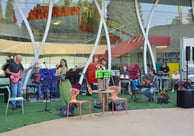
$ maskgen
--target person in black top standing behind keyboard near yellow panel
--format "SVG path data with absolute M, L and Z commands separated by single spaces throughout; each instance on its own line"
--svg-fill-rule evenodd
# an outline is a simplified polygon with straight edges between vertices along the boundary
M 165 65 L 165 63 L 162 64 L 162 66 L 160 67 L 160 71 L 163 72 L 163 84 L 164 84 L 164 88 L 166 90 L 168 90 L 168 76 L 169 76 L 169 67 Z

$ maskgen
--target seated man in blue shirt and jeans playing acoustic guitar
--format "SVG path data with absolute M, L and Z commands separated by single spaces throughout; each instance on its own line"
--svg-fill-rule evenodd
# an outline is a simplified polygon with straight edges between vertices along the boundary
M 148 101 L 153 101 L 154 92 L 157 90 L 158 77 L 155 75 L 155 70 L 150 69 L 149 74 L 143 77 L 141 93 L 147 96 Z

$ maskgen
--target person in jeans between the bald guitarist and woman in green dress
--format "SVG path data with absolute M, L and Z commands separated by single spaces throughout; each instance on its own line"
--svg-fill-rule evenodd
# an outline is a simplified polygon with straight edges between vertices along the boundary
M 35 84 L 37 86 L 38 89 L 38 98 L 42 99 L 42 94 L 41 94 L 41 85 L 40 85 L 40 81 L 43 80 L 43 78 L 41 77 L 40 74 L 40 67 L 36 67 L 35 72 L 32 74 L 31 76 L 31 81 L 33 84 Z

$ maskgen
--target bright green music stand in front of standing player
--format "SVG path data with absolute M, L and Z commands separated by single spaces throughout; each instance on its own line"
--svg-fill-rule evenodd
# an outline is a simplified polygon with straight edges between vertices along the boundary
M 104 78 L 110 78 L 110 70 L 96 70 L 96 75 L 95 77 L 97 79 L 104 79 Z M 105 85 L 106 85 L 106 80 L 105 80 L 105 83 L 104 83 L 104 80 L 103 80 L 103 90 L 105 91 Z

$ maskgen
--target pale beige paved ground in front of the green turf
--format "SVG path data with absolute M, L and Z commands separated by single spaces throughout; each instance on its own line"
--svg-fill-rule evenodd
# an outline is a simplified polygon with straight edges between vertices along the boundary
M 34 124 L 0 136 L 193 136 L 194 109 L 147 109 Z M 14 122 L 12 122 L 14 123 Z

